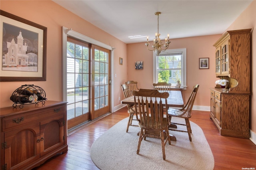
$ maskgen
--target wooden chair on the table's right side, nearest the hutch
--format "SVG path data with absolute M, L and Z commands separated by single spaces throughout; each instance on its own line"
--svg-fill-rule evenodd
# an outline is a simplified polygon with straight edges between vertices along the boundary
M 171 127 L 169 128 L 169 130 L 174 130 L 174 131 L 179 131 L 179 132 L 188 132 L 188 138 L 190 141 L 192 141 L 192 138 L 191 138 L 192 129 L 190 127 L 189 119 L 191 117 L 191 111 L 192 111 L 192 108 L 194 105 L 194 101 L 196 99 L 196 93 L 198 91 L 198 88 L 199 88 L 199 85 L 196 85 L 193 87 L 190 97 L 189 97 L 186 105 L 182 109 L 173 109 L 173 108 L 168 109 L 168 117 L 169 117 L 170 125 L 173 125 L 173 124 L 174 125 L 184 125 L 187 127 L 187 131 L 173 129 Z M 171 121 L 172 117 L 180 117 L 182 119 L 185 119 L 186 124 L 173 123 Z

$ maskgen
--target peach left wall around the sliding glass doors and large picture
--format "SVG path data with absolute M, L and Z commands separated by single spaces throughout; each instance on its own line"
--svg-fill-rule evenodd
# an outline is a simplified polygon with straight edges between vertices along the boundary
M 26 20 L 47 27 L 47 67 L 46 81 L 0 82 L 0 107 L 12 106 L 10 95 L 24 84 L 34 84 L 42 87 L 48 100 L 62 101 L 62 26 L 84 34 L 90 38 L 115 47 L 113 77 L 114 106 L 120 104 L 118 97 L 120 83 L 127 79 L 126 65 L 119 65 L 119 57 L 126 60 L 126 43 L 93 26 L 89 22 L 62 8 L 51 0 L 1 0 L 0 9 Z M 116 88 L 115 88 L 116 87 Z

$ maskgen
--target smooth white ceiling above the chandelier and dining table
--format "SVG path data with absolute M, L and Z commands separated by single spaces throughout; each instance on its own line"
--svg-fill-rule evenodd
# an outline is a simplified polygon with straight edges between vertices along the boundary
M 252 0 L 53 0 L 125 43 L 222 34 Z

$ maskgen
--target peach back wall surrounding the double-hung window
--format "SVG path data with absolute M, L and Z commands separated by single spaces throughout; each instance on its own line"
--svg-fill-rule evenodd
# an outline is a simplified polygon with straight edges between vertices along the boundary
M 210 87 L 215 87 L 218 79 L 215 75 L 215 47 L 213 44 L 221 34 L 173 39 L 168 49 L 186 48 L 187 53 L 187 90 L 184 91 L 185 100 L 188 99 L 192 87 L 199 84 L 199 90 L 194 105 L 210 106 Z M 152 42 L 151 42 L 152 44 Z M 138 81 L 139 88 L 152 89 L 153 84 L 153 52 L 148 51 L 145 43 L 127 45 L 128 79 Z M 209 69 L 199 69 L 199 58 L 209 58 Z M 135 61 L 143 61 L 143 69 L 135 69 Z

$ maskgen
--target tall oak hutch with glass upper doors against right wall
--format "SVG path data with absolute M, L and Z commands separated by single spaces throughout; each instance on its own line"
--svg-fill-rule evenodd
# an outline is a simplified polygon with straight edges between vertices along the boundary
M 215 74 L 229 82 L 210 88 L 210 118 L 221 135 L 250 138 L 250 32 L 228 31 L 214 44 Z

